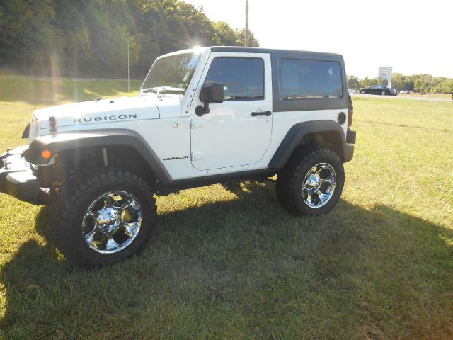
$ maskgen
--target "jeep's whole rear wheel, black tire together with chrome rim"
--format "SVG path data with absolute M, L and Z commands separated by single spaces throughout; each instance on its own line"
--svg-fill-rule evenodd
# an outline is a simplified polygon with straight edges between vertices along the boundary
M 345 184 L 343 162 L 323 147 L 300 148 L 277 177 L 277 200 L 293 215 L 322 215 L 338 203 Z

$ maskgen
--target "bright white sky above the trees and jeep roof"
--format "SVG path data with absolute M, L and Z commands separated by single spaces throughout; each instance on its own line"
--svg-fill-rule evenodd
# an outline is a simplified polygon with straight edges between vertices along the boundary
M 245 0 L 185 0 L 212 21 L 245 26 Z M 452 0 L 249 0 L 249 27 L 260 47 L 340 53 L 346 72 L 453 78 Z

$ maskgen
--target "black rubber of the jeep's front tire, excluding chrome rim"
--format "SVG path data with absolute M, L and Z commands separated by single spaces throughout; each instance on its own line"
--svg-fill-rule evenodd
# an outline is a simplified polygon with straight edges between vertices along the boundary
M 74 189 L 58 195 L 52 212 L 58 216 L 55 222 L 55 243 L 59 251 L 80 267 L 102 266 L 121 261 L 136 253 L 147 244 L 156 225 L 156 200 L 149 183 L 136 174 L 124 170 L 105 170 L 92 174 L 89 179 L 75 182 Z M 86 244 L 82 232 L 84 214 L 96 198 L 109 191 L 132 193 L 142 206 L 142 225 L 129 246 L 113 254 L 99 254 Z

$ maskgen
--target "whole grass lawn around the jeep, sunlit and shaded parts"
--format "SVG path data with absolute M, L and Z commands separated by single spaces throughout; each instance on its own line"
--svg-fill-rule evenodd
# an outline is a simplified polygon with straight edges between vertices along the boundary
M 0 77 L 0 150 L 36 108 L 126 89 Z M 273 183 L 182 191 L 157 198 L 142 254 L 82 271 L 47 242 L 47 208 L 0 194 L 0 336 L 453 339 L 453 103 L 354 100 L 355 157 L 321 217 L 288 215 Z

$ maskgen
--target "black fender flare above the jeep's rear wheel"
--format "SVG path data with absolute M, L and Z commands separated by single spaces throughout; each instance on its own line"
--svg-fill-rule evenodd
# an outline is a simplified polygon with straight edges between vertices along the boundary
M 283 138 L 280 146 L 275 151 L 272 159 L 268 164 L 268 167 L 273 169 L 282 169 L 289 157 L 291 157 L 294 149 L 299 145 L 299 142 L 306 136 L 312 133 L 319 132 L 333 132 L 338 134 L 341 140 L 341 145 L 338 146 L 338 149 L 341 150 L 339 156 L 343 161 L 345 161 L 344 149 L 346 147 L 345 132 L 340 124 L 336 123 L 334 120 L 312 120 L 304 123 L 297 123 L 290 128 Z

